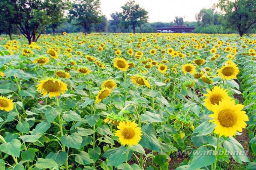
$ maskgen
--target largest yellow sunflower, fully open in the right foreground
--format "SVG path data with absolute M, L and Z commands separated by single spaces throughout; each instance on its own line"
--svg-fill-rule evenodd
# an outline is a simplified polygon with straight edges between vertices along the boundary
M 209 115 L 216 124 L 214 132 L 220 136 L 234 136 L 236 132 L 242 132 L 246 127 L 245 121 L 249 118 L 245 111 L 242 111 L 244 105 L 235 104 L 235 101 L 223 100 L 219 105 L 213 107 L 214 114 Z

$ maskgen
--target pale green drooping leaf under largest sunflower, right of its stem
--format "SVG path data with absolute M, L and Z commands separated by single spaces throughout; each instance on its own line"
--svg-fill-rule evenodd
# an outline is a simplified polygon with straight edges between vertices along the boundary
M 238 163 L 250 162 L 244 151 L 243 146 L 235 140 L 234 137 L 229 137 L 228 140 L 223 142 L 223 147 L 232 155 Z

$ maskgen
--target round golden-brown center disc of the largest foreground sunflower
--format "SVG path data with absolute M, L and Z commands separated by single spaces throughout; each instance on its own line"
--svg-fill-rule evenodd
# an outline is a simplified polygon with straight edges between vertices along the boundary
M 231 109 L 224 109 L 219 112 L 218 120 L 224 127 L 232 127 L 237 122 L 237 116 Z

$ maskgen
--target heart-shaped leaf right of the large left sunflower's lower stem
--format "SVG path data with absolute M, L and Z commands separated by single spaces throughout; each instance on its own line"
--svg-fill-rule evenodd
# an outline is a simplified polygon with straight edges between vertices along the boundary
M 78 133 L 72 133 L 71 135 L 64 135 L 61 136 L 60 142 L 69 147 L 69 148 L 75 148 L 80 149 L 80 146 L 82 144 L 82 137 Z

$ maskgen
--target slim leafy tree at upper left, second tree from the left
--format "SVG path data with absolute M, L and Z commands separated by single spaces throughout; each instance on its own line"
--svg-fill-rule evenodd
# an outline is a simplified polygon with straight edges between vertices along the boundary
M 55 35 L 55 29 L 64 22 L 64 10 L 69 9 L 69 0 L 45 0 L 46 13 L 49 16 L 49 25 Z

